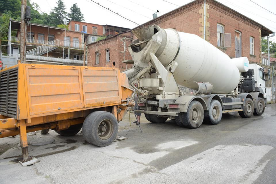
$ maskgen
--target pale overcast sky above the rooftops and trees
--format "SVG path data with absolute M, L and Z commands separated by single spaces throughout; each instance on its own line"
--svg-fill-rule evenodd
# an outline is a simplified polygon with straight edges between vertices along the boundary
M 49 13 L 57 4 L 57 0 L 31 0 L 39 5 L 42 12 Z M 85 21 L 100 25 L 114 25 L 125 28 L 134 28 L 137 24 L 143 24 L 152 19 L 152 14 L 159 10 L 160 15 L 165 14 L 179 6 L 185 5 L 192 0 L 63 0 L 66 5 L 66 11 L 70 12 L 70 7 L 77 3 L 81 8 Z M 275 0 L 216 0 L 235 11 L 251 18 L 252 20 L 276 32 L 276 1 Z M 262 6 L 262 7 L 256 5 Z M 170 2 L 170 3 L 169 3 Z M 101 7 L 100 5 L 120 14 L 121 16 L 136 22 L 137 24 L 126 20 L 116 13 Z M 271 11 L 271 12 L 269 12 Z M 274 14 L 273 14 L 274 13 Z M 276 36 L 269 38 L 276 42 Z

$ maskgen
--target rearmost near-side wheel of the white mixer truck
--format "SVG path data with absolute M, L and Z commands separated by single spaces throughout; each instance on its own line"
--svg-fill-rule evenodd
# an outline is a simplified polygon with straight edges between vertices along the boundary
M 184 127 L 195 129 L 202 125 L 204 119 L 203 106 L 198 101 L 192 101 L 189 104 L 187 113 L 180 112 L 175 118 L 178 125 L 183 124 Z

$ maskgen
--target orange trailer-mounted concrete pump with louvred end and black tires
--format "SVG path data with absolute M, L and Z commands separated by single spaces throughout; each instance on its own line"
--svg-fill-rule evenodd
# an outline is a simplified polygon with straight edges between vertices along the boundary
M 27 132 L 53 129 L 107 146 L 127 113 L 133 90 L 118 68 L 18 64 L 0 72 L 0 138 L 20 135 L 23 160 Z

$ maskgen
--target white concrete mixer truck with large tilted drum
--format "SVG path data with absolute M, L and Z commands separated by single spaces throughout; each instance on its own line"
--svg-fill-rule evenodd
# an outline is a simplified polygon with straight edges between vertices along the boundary
M 170 118 L 194 129 L 203 122 L 218 124 L 222 113 L 242 118 L 264 113 L 264 69 L 246 57 L 230 59 L 197 35 L 156 25 L 132 32 L 138 38 L 128 47 L 134 65 L 124 73 L 129 84 L 138 82 L 143 95 L 137 112 L 148 121 Z M 196 92 L 183 94 L 177 84 Z

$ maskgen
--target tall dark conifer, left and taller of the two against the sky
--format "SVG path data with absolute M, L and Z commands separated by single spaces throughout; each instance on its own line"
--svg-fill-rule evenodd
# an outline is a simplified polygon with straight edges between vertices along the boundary
M 59 24 L 63 24 L 63 18 L 66 18 L 66 11 L 65 11 L 65 5 L 62 0 L 58 0 L 57 6 L 52 9 L 49 18 L 51 20 L 51 24 L 54 24 L 53 26 L 57 26 Z

